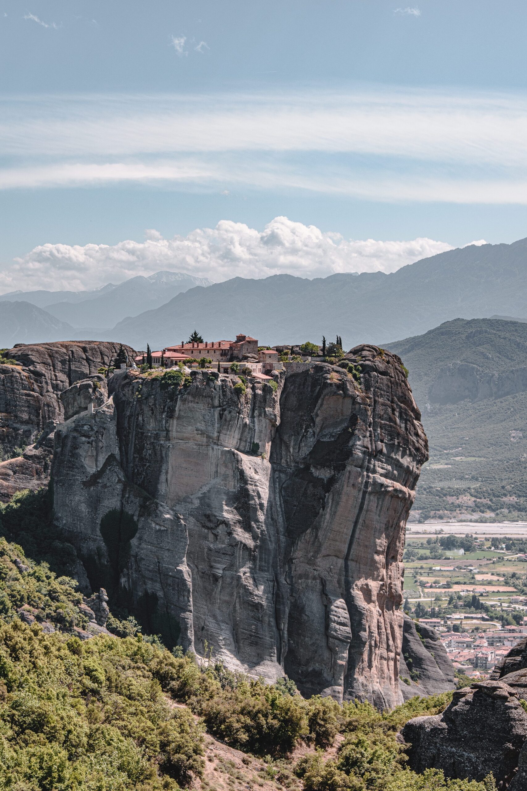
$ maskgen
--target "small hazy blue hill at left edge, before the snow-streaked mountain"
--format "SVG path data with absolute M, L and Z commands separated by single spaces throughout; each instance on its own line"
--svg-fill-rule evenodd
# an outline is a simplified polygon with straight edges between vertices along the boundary
M 6 302 L 0 307 L 0 347 L 15 343 L 71 340 L 73 327 L 30 302 Z

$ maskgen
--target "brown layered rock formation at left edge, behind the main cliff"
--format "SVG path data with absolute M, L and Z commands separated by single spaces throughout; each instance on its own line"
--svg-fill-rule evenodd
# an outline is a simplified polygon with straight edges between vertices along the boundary
M 99 388 L 93 400 L 104 403 L 106 380 L 97 371 L 118 350 L 119 343 L 97 341 L 17 344 L 9 350 L 18 365 L 0 364 L 0 500 L 47 485 L 55 425 L 81 409 L 90 388 L 92 395 Z M 135 354 L 129 346 L 126 353 Z M 81 393 L 66 395 L 72 385 Z

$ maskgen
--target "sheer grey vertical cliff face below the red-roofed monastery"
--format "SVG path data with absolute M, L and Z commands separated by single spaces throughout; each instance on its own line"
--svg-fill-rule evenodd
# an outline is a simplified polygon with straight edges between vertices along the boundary
M 55 514 L 105 587 L 165 639 L 306 694 L 401 702 L 402 549 L 427 442 L 374 346 L 277 387 L 119 373 L 55 433 Z M 109 592 L 110 592 L 109 590 Z

